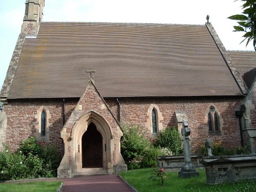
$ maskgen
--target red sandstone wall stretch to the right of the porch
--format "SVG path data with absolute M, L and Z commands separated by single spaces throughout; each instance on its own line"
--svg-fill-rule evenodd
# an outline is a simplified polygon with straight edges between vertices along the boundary
M 241 101 L 237 99 L 119 99 L 121 103 L 121 122 L 140 124 L 145 129 L 148 118 L 147 110 L 152 103 L 157 104 L 162 113 L 163 127 L 175 126 L 175 111 L 185 111 L 188 125 L 191 130 L 192 150 L 198 151 L 204 145 L 206 108 L 214 104 L 223 118 L 223 136 L 209 136 L 214 142 L 221 142 L 224 146 L 241 146 L 239 119 L 235 111 L 240 108 Z M 106 99 L 110 103 L 111 110 L 117 114 L 117 101 Z M 116 104 L 114 104 L 116 103 Z

